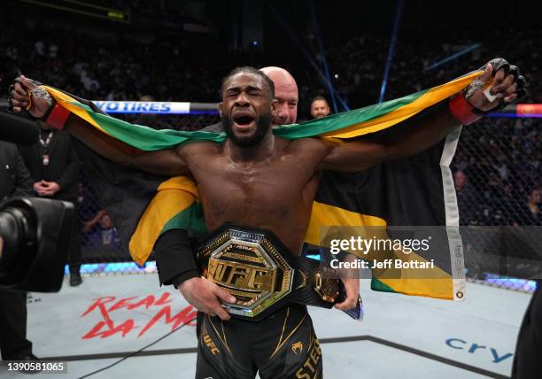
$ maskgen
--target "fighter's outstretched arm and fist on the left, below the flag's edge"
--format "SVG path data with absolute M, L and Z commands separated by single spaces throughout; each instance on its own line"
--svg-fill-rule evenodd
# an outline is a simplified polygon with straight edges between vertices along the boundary
M 24 76 L 15 82 L 10 93 L 10 105 L 13 112 L 21 112 L 21 109 L 27 108 L 27 111 L 37 119 L 43 118 L 49 113 L 49 118 L 53 115 L 51 107 L 54 104 L 50 99 L 43 97 L 32 97 L 29 101 L 27 90 L 33 91 L 38 86 L 34 81 Z M 28 106 L 30 105 L 30 106 Z M 112 138 L 109 135 L 98 131 L 96 128 L 89 127 L 89 123 L 82 120 L 74 113 L 70 113 L 64 120 L 64 128 L 75 138 L 85 143 L 93 151 L 96 151 L 106 159 L 123 166 L 130 166 L 141 169 L 151 174 L 157 175 L 182 175 L 189 174 L 185 161 L 177 154 L 174 149 L 161 151 L 140 151 L 127 143 Z

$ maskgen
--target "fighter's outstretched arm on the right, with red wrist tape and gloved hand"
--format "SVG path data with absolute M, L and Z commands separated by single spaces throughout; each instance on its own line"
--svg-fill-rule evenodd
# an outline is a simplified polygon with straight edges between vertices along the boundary
M 319 168 L 358 172 L 386 160 L 411 157 L 441 141 L 454 128 L 473 122 L 476 115 L 473 118 L 473 113 L 469 113 L 467 108 L 488 112 L 499 104 L 515 101 L 518 93 L 523 91 L 524 79 L 519 76 L 517 67 L 507 65 L 504 59 L 500 59 L 499 63 L 492 81 L 493 101 L 484 95 L 484 84 L 490 81 L 494 69 L 494 65 L 488 64 L 484 73 L 468 87 L 465 94 L 458 94 L 456 98 L 434 105 L 422 115 L 408 120 L 383 141 L 327 141 L 329 153 Z M 468 100 L 463 96 L 468 97 Z

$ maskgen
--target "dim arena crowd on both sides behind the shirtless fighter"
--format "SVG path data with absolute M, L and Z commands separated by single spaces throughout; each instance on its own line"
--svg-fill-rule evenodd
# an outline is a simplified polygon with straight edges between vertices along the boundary
M 144 2 L 143 2 L 144 3 Z M 8 15 L 0 16 L 0 77 L 11 81 L 25 73 L 77 96 L 93 100 L 160 100 L 217 102 L 221 77 L 235 65 L 225 57 L 213 66 L 201 64 L 182 44 L 138 43 L 129 39 L 97 40 L 89 34 L 41 27 L 21 30 Z M 487 58 L 510 56 L 522 67 L 528 80 L 539 77 L 538 50 L 528 43 L 535 33 L 515 32 L 515 38 L 499 38 L 507 31 L 495 30 L 488 43 L 461 58 L 427 70 L 430 64 L 458 50 L 479 43 L 467 32 L 458 32 L 460 43 L 406 40 L 398 43 L 391 60 L 385 99 L 451 80 L 472 70 Z M 497 43 L 498 41 L 499 43 Z M 315 50 L 308 38 L 307 47 Z M 324 41 L 324 50 L 337 96 L 352 108 L 376 103 L 383 81 L 389 38 L 378 35 L 352 36 L 348 41 Z M 318 62 L 321 55 L 315 54 Z M 238 59 L 239 56 L 236 56 Z M 253 61 L 253 60 L 252 60 Z M 261 62 L 262 66 L 266 62 Z M 295 70 L 294 70 L 295 71 Z M 337 73 L 337 77 L 335 74 Z M 317 74 L 306 70 L 298 76 L 299 96 L 321 94 L 327 86 Z M 2 86 L 7 89 L 6 83 Z M 530 91 L 527 103 L 542 103 L 542 91 Z M 301 103 L 304 104 L 304 103 Z M 340 110 L 339 106 L 339 110 Z M 307 114 L 299 110 L 300 118 Z M 196 130 L 216 122 L 213 115 L 122 116 L 130 122 L 153 128 Z M 537 119 L 486 118 L 467 128 L 453 160 L 453 173 L 463 225 L 541 225 L 542 146 Z M 81 185 L 83 245 L 118 244 L 111 219 L 101 212 L 86 186 Z M 84 226 L 84 228 L 82 227 Z

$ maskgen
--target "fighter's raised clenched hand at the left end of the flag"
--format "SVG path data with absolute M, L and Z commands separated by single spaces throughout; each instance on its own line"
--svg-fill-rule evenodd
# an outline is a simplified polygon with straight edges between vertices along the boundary
M 34 81 L 30 81 L 26 76 L 21 75 L 19 80 L 13 84 L 10 92 L 9 106 L 12 106 L 12 112 L 19 113 L 21 110 L 27 109 L 28 104 L 30 104 L 27 111 L 36 119 L 41 119 L 50 108 L 50 100 L 41 97 L 38 92 L 35 92 L 35 96 L 31 95 L 32 91 L 36 90 L 41 93 L 45 89 L 39 89 Z

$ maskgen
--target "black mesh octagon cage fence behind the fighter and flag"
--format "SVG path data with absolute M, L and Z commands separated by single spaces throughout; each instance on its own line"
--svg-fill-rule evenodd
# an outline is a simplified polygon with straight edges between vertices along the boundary
M 114 117 L 156 129 L 194 131 L 220 121 L 216 104 L 210 103 L 96 103 Z M 538 212 L 542 138 L 538 120 L 536 114 L 504 112 L 461 131 L 451 169 L 462 230 L 476 230 L 476 237 L 463 245 L 468 281 L 523 292 L 536 288 L 536 282 L 530 279 L 538 277 L 542 266 L 542 213 Z M 81 273 L 156 271 L 152 256 L 139 267 L 121 248 L 112 220 L 97 201 L 84 172 L 78 203 Z M 510 243 L 510 239 L 515 242 Z

